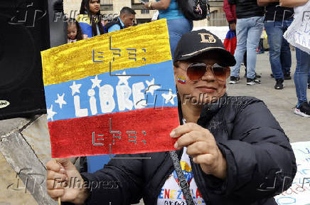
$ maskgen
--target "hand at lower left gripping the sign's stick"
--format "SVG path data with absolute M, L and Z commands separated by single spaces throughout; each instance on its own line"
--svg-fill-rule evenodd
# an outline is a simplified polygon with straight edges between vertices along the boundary
M 57 201 L 60 197 L 61 201 L 84 204 L 89 192 L 82 186 L 84 180 L 68 158 L 51 159 L 46 168 L 48 169 L 46 186 L 52 199 Z

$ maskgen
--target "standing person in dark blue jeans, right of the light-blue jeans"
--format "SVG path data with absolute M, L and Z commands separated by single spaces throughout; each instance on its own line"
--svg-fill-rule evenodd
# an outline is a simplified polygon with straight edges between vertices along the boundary
M 282 90 L 284 80 L 292 79 L 291 48 L 283 34 L 294 20 L 294 9 L 279 6 L 279 1 L 275 0 L 257 0 L 257 4 L 266 6 L 264 28 L 268 36 L 272 75 L 276 80 L 274 89 Z

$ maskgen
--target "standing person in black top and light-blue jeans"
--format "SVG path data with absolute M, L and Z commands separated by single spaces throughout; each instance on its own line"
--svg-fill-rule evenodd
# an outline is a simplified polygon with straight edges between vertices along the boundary
M 257 0 L 235 0 L 237 48 L 235 50 L 236 65 L 230 72 L 230 84 L 239 80 L 240 66 L 247 51 L 247 85 L 260 84 L 255 76 L 257 47 L 263 30 L 264 8 L 257 6 Z

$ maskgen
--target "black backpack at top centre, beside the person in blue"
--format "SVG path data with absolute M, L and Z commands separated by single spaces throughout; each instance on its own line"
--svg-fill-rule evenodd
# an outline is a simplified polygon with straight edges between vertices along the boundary
M 208 0 L 177 0 L 178 8 L 183 11 L 186 19 L 193 21 L 206 19 L 210 14 Z

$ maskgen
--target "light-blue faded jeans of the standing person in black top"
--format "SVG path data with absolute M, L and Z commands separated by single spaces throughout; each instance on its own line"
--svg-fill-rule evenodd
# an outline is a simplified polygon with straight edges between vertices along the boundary
M 239 76 L 243 55 L 247 51 L 247 78 L 255 78 L 256 50 L 262 35 L 263 20 L 262 16 L 237 19 L 237 48 L 235 50 L 237 63 L 231 68 L 231 76 Z

